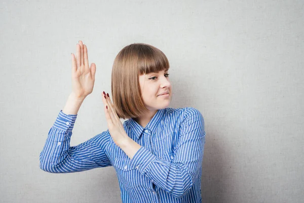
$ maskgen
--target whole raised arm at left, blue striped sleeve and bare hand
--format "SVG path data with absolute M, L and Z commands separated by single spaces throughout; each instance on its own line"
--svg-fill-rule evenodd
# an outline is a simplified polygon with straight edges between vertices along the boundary
M 87 46 L 79 41 L 76 56 L 71 54 L 72 93 L 50 129 L 40 154 L 40 168 L 50 173 L 85 171 L 111 165 L 104 151 L 108 132 L 102 132 L 78 146 L 70 147 L 72 128 L 87 95 L 92 93 L 96 65 L 89 66 Z

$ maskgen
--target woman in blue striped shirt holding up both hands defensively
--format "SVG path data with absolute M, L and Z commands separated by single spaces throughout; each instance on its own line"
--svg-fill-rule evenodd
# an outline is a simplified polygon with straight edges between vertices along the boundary
M 201 202 L 204 119 L 195 108 L 168 107 L 172 86 L 165 54 L 142 43 L 124 47 L 112 67 L 113 101 L 102 94 L 108 129 L 70 147 L 78 110 L 93 91 L 96 72 L 82 41 L 76 56 L 71 54 L 72 93 L 49 131 L 41 169 L 71 173 L 113 166 L 123 202 Z

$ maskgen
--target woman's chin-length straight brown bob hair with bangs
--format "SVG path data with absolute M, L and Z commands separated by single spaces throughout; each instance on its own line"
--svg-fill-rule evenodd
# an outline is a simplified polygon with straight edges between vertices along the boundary
M 169 70 L 169 61 L 154 46 L 134 43 L 117 54 L 112 67 L 111 93 L 119 118 L 137 118 L 148 110 L 143 103 L 139 76 L 163 70 Z

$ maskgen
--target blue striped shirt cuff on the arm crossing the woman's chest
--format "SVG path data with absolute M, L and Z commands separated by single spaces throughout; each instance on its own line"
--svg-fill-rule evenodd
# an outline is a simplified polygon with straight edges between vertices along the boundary
M 141 174 L 146 173 L 148 165 L 156 158 L 156 156 L 141 146 L 131 160 L 132 167 L 135 167 Z

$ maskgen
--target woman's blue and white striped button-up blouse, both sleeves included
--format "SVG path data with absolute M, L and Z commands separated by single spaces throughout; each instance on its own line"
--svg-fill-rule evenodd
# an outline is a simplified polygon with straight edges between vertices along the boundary
M 128 136 L 141 145 L 132 159 L 113 142 L 108 130 L 70 147 L 76 118 L 59 112 L 40 154 L 42 170 L 71 173 L 113 166 L 122 202 L 202 202 L 206 133 L 197 109 L 158 110 L 145 127 L 132 118 L 126 120 Z

